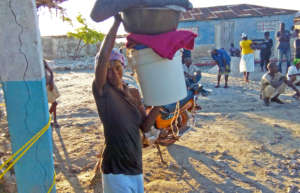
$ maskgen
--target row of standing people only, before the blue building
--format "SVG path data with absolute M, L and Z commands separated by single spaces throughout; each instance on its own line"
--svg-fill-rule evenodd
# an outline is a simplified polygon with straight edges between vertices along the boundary
M 289 30 L 285 29 L 285 24 L 281 23 L 280 30 L 277 32 L 276 37 L 278 40 L 278 70 L 279 72 L 282 72 L 282 64 L 284 62 L 284 59 L 286 59 L 286 72 L 288 72 L 291 64 L 291 42 L 292 47 L 295 48 L 294 58 L 300 57 L 299 30 L 293 28 L 293 31 L 290 32 Z M 246 33 L 242 33 L 241 39 L 240 49 L 235 48 L 234 44 L 232 43 L 229 52 L 231 57 L 241 57 L 239 70 L 244 74 L 245 82 L 249 82 L 250 73 L 254 72 L 255 49 L 260 50 L 261 71 L 268 71 L 267 65 L 270 63 L 270 58 L 272 56 L 273 40 L 270 38 L 270 32 L 265 32 L 264 39 L 260 40 L 259 42 L 248 39 Z M 219 66 L 218 82 L 220 75 L 225 73 L 225 85 L 227 85 L 226 82 L 228 81 L 228 76 L 226 77 L 226 75 L 228 74 L 227 71 L 230 71 L 230 60 L 227 59 L 228 54 L 224 49 L 213 49 L 211 51 L 211 56 Z M 227 64 L 225 64 L 226 61 Z M 228 70 L 224 70 L 226 68 Z M 218 85 L 219 83 L 216 87 L 218 87 Z

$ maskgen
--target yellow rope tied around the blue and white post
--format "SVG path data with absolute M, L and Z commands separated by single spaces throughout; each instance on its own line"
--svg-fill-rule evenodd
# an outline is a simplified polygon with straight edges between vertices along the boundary
M 37 134 L 35 134 L 29 141 L 25 143 L 16 153 L 10 156 L 1 166 L 0 170 L 8 165 L 14 158 L 14 161 L 9 164 L 9 166 L 0 174 L 0 179 L 25 155 L 25 153 L 40 139 L 40 137 L 50 128 L 51 115 L 49 116 L 49 121 L 46 126 L 44 126 Z M 50 193 L 55 185 L 56 173 L 54 171 L 53 183 L 48 190 Z

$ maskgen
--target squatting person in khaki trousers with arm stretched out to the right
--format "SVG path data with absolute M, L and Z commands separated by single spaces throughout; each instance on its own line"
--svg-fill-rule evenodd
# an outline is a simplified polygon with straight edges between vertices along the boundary
M 266 106 L 270 105 L 271 102 L 284 104 L 278 97 L 284 93 L 286 85 L 293 88 L 297 95 L 300 96 L 299 90 L 287 80 L 287 78 L 278 71 L 278 67 L 274 63 L 269 63 L 268 72 L 265 73 L 261 79 L 261 99 L 264 101 Z

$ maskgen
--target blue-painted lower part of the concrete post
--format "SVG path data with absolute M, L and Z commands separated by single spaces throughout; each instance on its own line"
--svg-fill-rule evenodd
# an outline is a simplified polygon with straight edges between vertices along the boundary
M 4 82 L 3 90 L 12 150 L 16 152 L 49 120 L 46 80 Z M 51 131 L 49 128 L 15 165 L 18 193 L 49 190 L 54 175 Z

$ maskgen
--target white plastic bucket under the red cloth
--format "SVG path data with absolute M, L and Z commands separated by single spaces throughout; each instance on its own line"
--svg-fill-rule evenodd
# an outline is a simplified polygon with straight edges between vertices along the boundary
M 167 105 L 187 96 L 179 52 L 168 60 L 147 48 L 134 51 L 133 58 L 146 105 Z

